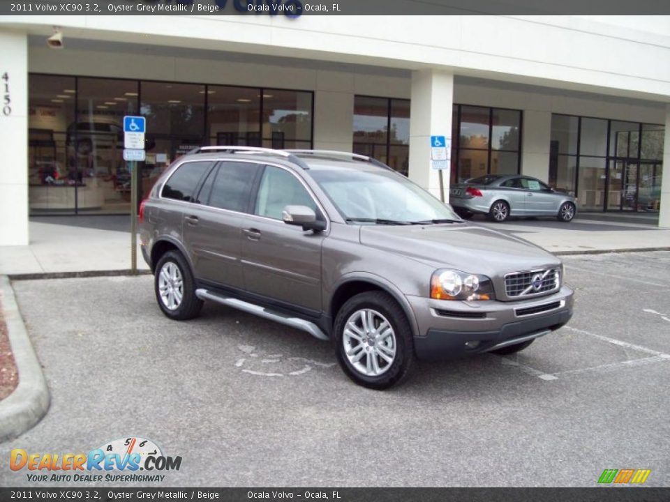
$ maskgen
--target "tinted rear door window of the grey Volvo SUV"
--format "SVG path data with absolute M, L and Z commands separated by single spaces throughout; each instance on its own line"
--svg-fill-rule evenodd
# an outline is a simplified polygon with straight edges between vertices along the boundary
M 251 162 L 221 162 L 218 170 L 214 169 L 216 173 L 212 172 L 202 185 L 201 193 L 204 190 L 211 192 L 207 205 L 246 213 L 258 169 L 260 165 Z M 206 193 L 200 196 L 203 201 L 208 198 Z

